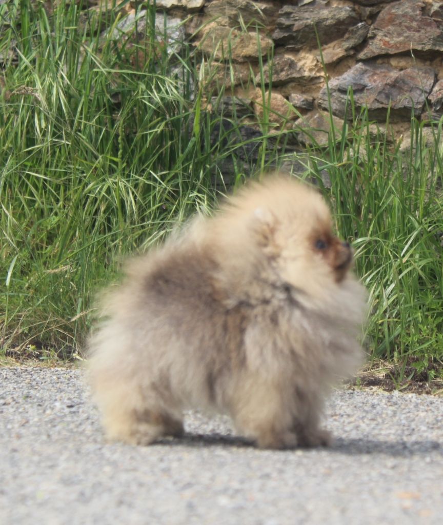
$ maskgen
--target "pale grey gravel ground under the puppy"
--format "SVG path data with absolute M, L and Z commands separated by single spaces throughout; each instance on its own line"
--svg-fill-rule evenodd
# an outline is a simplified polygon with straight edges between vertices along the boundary
M 441 523 L 443 397 L 337 391 L 328 449 L 257 450 L 225 418 L 106 444 L 80 371 L 0 369 L 0 523 Z

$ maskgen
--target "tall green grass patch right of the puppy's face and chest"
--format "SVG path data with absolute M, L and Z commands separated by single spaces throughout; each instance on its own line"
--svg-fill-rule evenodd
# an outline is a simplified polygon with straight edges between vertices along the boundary
M 399 363 L 400 375 L 406 363 L 421 373 L 443 359 L 441 123 L 431 147 L 423 124 L 413 119 L 411 129 L 412 146 L 401 153 L 370 133 L 363 114 L 330 144 L 329 159 L 317 160 L 333 181 L 337 230 L 353 242 L 370 292 L 368 351 Z

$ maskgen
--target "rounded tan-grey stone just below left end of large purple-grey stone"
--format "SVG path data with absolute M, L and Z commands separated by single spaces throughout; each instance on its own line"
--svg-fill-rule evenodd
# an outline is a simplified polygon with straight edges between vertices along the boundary
M 325 111 L 313 110 L 294 123 L 297 127 L 297 138 L 302 144 L 327 146 L 331 133 L 331 118 Z M 336 138 L 341 137 L 344 121 L 333 117 L 332 125 Z M 305 131 L 308 130 L 308 131 Z

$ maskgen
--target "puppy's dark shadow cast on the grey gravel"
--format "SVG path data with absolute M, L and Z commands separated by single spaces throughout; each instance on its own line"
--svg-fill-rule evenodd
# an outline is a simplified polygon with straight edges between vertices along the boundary
M 185 433 L 180 438 L 165 438 L 156 442 L 156 445 L 167 446 L 185 446 L 193 448 L 205 447 L 235 447 L 235 448 L 253 448 L 254 442 L 235 435 L 226 434 L 191 434 Z M 304 451 L 329 451 L 331 453 L 346 455 L 371 455 L 383 454 L 392 457 L 411 457 L 426 455 L 429 453 L 443 456 L 443 443 L 433 440 L 412 440 L 412 441 L 387 441 L 366 438 L 343 438 L 337 437 L 329 447 L 318 448 L 299 448 L 294 450 Z M 288 453 L 291 450 L 280 450 Z M 279 452 L 279 450 L 276 450 Z

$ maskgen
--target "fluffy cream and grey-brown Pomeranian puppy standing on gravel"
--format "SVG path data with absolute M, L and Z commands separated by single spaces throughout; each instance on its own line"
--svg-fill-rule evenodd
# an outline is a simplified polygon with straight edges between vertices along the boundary
M 275 174 L 130 261 L 89 343 L 108 437 L 180 436 L 195 408 L 262 448 L 328 444 L 328 386 L 363 354 L 351 260 L 321 196 Z

